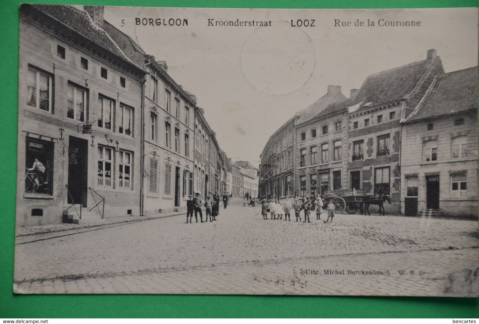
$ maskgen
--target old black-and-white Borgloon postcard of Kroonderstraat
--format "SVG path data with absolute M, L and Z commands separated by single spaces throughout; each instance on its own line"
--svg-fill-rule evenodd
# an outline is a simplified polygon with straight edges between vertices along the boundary
M 15 293 L 478 296 L 478 8 L 19 15 Z

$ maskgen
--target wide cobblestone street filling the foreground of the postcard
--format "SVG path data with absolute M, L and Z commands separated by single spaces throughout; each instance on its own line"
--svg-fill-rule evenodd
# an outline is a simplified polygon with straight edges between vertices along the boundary
M 297 223 L 294 216 L 266 221 L 260 205 L 243 207 L 239 199 L 220 213 L 213 223 L 193 218 L 185 224 L 183 215 L 29 238 L 33 242 L 15 246 L 14 291 L 410 296 L 479 291 L 477 221 L 362 215 L 337 215 L 331 224 L 315 215 L 311 223 Z

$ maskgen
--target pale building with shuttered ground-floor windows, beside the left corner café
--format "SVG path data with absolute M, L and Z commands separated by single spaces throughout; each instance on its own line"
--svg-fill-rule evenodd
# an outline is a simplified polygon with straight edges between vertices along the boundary
M 148 73 L 144 84 L 144 160 L 140 209 L 142 215 L 186 210 L 193 194 L 194 107 L 196 97 L 168 74 L 131 37 L 104 22 L 104 29 L 128 58 Z

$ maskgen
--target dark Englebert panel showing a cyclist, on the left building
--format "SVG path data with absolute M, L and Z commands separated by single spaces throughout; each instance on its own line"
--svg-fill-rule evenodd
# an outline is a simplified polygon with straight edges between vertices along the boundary
M 53 194 L 53 142 L 27 137 L 25 143 L 25 193 Z

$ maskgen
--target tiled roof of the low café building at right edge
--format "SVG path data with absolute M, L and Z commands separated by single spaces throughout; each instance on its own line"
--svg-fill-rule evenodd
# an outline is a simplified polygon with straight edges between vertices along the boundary
M 406 122 L 478 108 L 478 67 L 437 76 Z

